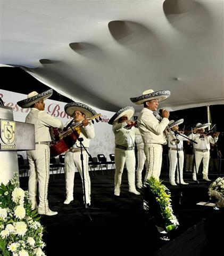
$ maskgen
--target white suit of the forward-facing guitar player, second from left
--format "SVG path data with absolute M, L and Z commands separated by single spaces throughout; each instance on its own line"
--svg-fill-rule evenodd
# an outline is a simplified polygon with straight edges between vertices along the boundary
M 75 123 L 73 123 L 74 125 Z M 90 140 L 95 137 L 94 125 L 92 122 L 89 122 L 87 126 L 82 126 L 79 134 L 79 138 L 83 138 L 82 144 L 88 150 Z M 85 194 L 86 194 L 86 204 L 90 205 L 91 202 L 91 181 L 88 172 L 88 162 L 89 157 L 86 153 L 85 149 L 82 148 L 83 154 L 83 164 L 84 164 L 84 182 L 85 182 Z M 64 157 L 64 167 L 65 167 L 65 183 L 66 183 L 66 194 L 69 201 L 73 199 L 73 188 L 74 188 L 74 172 L 76 167 L 80 173 L 82 180 L 82 188 L 83 179 L 82 179 L 82 167 L 81 167 L 81 157 L 80 157 L 80 142 L 77 140 L 73 147 L 65 153 Z

